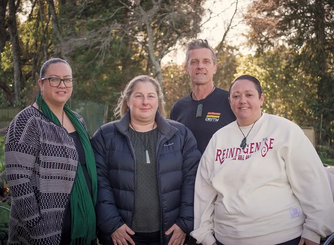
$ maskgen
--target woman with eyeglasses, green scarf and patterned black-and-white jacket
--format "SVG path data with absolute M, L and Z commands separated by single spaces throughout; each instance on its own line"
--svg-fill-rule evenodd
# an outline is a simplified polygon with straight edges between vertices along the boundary
M 7 128 L 8 244 L 96 243 L 94 154 L 83 118 L 66 104 L 74 82 L 66 61 L 46 61 L 36 101 Z

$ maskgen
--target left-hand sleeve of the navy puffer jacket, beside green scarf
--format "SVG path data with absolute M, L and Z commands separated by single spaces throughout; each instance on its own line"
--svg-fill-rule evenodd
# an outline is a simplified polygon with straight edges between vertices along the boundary
M 108 134 L 110 136 L 110 134 Z M 93 147 L 96 170 L 97 170 L 97 204 L 95 207 L 96 212 L 96 225 L 105 234 L 111 235 L 116 229 L 124 224 L 118 209 L 115 205 L 114 192 L 109 181 L 108 161 L 105 140 L 103 130 L 99 128 L 92 137 L 91 144 Z

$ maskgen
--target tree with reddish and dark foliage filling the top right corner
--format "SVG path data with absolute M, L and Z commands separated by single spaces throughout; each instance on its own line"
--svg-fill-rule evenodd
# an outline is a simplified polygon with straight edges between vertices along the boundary
M 317 118 L 324 116 L 325 140 L 334 142 L 334 2 L 333 0 L 255 0 L 248 8 L 249 41 L 258 53 L 284 44 L 292 59 L 288 65 L 316 85 Z M 318 123 L 318 129 L 320 123 Z

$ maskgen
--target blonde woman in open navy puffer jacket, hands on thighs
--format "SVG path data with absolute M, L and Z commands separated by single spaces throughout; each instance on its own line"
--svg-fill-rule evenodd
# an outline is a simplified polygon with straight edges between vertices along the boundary
M 149 76 L 128 83 L 117 114 L 92 138 L 100 243 L 183 245 L 194 228 L 195 137 L 164 118 L 163 93 Z

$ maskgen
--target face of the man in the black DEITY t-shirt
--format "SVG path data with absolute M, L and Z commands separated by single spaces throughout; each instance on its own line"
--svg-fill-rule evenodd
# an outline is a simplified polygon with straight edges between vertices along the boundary
M 185 69 L 192 82 L 195 85 L 201 85 L 213 81 L 213 74 L 216 73 L 217 66 L 212 60 L 211 50 L 201 48 L 190 50 L 189 61 Z

